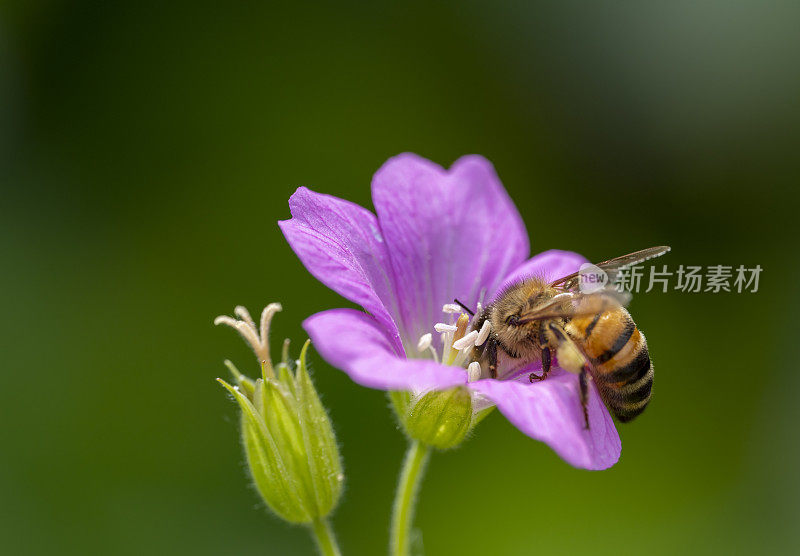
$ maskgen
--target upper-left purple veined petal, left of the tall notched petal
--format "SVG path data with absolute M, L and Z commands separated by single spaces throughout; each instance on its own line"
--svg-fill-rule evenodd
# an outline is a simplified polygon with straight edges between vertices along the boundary
M 291 220 L 278 222 L 308 271 L 358 303 L 399 341 L 392 265 L 377 218 L 367 209 L 300 187 L 289 198 Z

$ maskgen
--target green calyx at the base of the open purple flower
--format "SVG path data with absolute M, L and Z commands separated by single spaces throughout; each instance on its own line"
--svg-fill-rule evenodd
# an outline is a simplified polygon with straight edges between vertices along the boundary
M 461 386 L 420 397 L 392 392 L 390 397 L 406 434 L 440 450 L 461 444 L 487 414 L 486 410 L 473 414 L 472 396 Z

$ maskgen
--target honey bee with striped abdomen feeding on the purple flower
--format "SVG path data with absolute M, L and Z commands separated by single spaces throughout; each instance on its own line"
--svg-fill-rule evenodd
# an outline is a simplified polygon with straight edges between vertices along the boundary
M 651 247 L 596 266 L 612 284 L 621 270 L 669 250 Z M 576 272 L 554 282 L 530 278 L 506 288 L 473 321 L 473 329 L 480 330 L 488 320 L 491 333 L 473 348 L 472 357 L 492 378 L 497 378 L 501 353 L 516 368 L 540 361 L 541 374 L 529 376 L 534 382 L 547 378 L 555 353 L 561 368 L 579 376 L 586 428 L 590 380 L 609 411 L 622 422 L 630 421 L 650 401 L 653 363 L 647 341 L 624 307 L 629 294 L 611 287 L 583 293 L 580 280 L 581 273 Z

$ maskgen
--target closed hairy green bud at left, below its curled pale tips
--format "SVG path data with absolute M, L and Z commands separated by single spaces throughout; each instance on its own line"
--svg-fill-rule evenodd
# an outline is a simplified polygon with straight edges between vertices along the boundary
M 330 514 L 344 481 L 333 427 L 308 375 L 309 344 L 303 346 L 294 373 L 287 344 L 277 376 L 268 361 L 262 361 L 257 380 L 226 361 L 236 384 L 218 379 L 242 410 L 242 442 L 259 494 L 291 523 Z

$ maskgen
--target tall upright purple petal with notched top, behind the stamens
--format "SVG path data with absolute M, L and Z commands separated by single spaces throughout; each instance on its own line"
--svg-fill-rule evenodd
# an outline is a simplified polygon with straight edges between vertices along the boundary
M 449 170 L 406 153 L 372 180 L 391 256 L 403 336 L 416 341 L 460 299 L 475 307 L 528 255 L 528 235 L 494 168 L 471 155 Z

